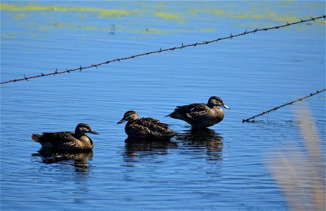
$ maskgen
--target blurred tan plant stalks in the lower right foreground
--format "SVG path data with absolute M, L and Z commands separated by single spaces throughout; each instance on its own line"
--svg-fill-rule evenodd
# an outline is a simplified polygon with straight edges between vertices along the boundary
M 325 210 L 325 154 L 322 140 L 306 107 L 295 111 L 305 150 L 291 148 L 268 162 L 289 210 Z

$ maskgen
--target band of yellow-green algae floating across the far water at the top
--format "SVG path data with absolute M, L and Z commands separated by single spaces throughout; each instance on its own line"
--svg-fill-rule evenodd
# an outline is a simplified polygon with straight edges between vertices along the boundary
M 188 7 L 174 4 L 167 1 L 159 3 L 138 2 L 134 6 L 112 4 L 104 6 L 83 6 L 83 4 L 64 6 L 59 1 L 53 1 L 52 4 L 24 3 L 19 1 L 5 1 L 0 3 L 1 11 L 11 12 L 8 18 L 16 21 L 25 21 L 20 23 L 23 27 L 35 27 L 42 32 L 55 29 L 76 29 L 76 30 L 100 30 L 110 34 L 115 32 L 128 32 L 135 34 L 174 34 L 183 32 L 216 32 L 219 21 L 234 24 L 235 27 L 243 29 L 260 27 L 272 27 L 274 25 L 284 25 L 286 22 L 292 23 L 300 20 L 300 18 L 309 18 L 305 15 L 298 16 L 295 10 L 292 12 L 282 13 L 278 11 L 279 7 L 292 7 L 293 3 L 284 5 L 274 4 L 190 4 Z M 310 4 L 307 5 L 307 7 Z M 245 6 L 245 7 L 243 7 Z M 319 4 L 318 4 L 319 6 Z M 238 7 L 238 8 L 237 8 Z M 62 12 L 62 13 L 60 13 Z M 69 13 L 69 14 L 66 14 Z M 47 23 L 38 23 L 33 21 L 30 23 L 31 16 L 40 15 L 49 18 Z M 76 23 L 63 23 L 61 16 L 73 15 L 72 21 Z M 124 18 L 128 15 L 129 18 Z M 73 18 L 77 18 L 76 20 Z M 79 19 L 78 19 L 79 18 Z M 106 21 L 92 22 L 88 25 L 80 25 L 84 20 L 94 18 L 107 18 L 119 20 L 119 22 L 111 21 L 116 27 L 107 27 Z M 34 20 L 34 19 L 32 19 Z M 83 20 L 83 21 L 80 21 Z M 138 20 L 147 20 L 145 25 L 137 25 Z M 243 21 L 246 20 L 246 21 Z M 248 21 L 247 21 L 248 20 Z M 121 21 L 121 22 L 120 22 Z M 70 21 L 69 21 L 70 22 Z M 222 23 L 221 22 L 221 23 Z M 159 27 L 164 23 L 164 27 Z M 168 24 L 167 24 L 168 23 Z M 205 25 L 205 23 L 216 23 L 215 25 Z M 3 23 L 6 24 L 6 23 Z M 42 24 L 42 25 L 39 25 Z M 93 25 L 92 25 L 93 24 Z M 106 24 L 106 25 L 103 25 Z M 298 25 L 295 29 L 308 29 L 309 25 L 318 24 L 325 25 L 325 20 L 315 20 L 314 23 L 305 23 Z M 176 26 L 178 25 L 178 26 Z M 180 27 L 180 25 L 183 25 Z M 303 27 L 304 26 L 304 27 Z M 3 35 L 2 37 L 10 37 Z

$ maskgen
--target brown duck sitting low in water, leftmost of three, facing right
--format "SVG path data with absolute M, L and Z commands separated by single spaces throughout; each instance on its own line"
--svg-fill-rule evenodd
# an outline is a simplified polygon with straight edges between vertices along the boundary
M 93 141 L 86 133 L 99 134 L 90 125 L 79 123 L 75 132 L 43 132 L 42 135 L 32 134 L 31 138 L 42 148 L 53 151 L 92 151 Z

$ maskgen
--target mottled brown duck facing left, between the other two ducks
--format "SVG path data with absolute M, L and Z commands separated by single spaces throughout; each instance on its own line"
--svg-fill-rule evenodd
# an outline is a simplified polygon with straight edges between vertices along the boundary
M 127 122 L 125 132 L 129 138 L 143 140 L 167 140 L 176 136 L 176 132 L 169 129 L 169 124 L 160 122 L 151 117 L 138 116 L 134 110 L 128 110 L 117 123 Z

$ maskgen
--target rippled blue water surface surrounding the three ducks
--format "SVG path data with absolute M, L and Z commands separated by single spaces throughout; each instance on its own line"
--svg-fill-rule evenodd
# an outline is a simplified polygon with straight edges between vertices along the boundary
M 1 6 L 1 82 L 325 13 L 322 1 L 37 2 L 92 11 L 15 6 L 34 10 Z M 101 16 L 95 8 L 133 13 Z M 324 88 L 325 20 L 2 84 L 1 210 L 287 210 L 266 160 L 304 149 L 293 114 L 300 105 L 310 108 L 325 152 L 325 93 L 256 123 L 242 120 Z M 231 108 L 210 129 L 164 118 L 210 96 Z M 167 143 L 125 143 L 116 122 L 127 110 L 179 134 Z M 100 133 L 90 134 L 92 153 L 42 155 L 30 139 L 79 122 Z

